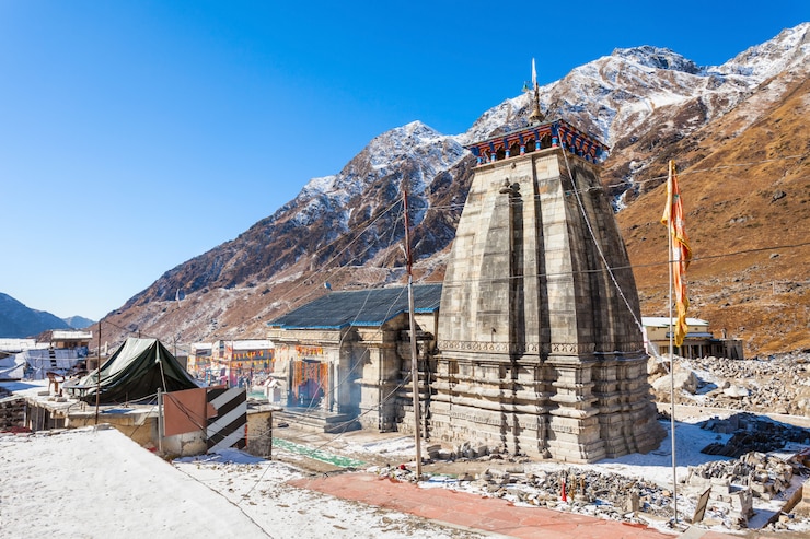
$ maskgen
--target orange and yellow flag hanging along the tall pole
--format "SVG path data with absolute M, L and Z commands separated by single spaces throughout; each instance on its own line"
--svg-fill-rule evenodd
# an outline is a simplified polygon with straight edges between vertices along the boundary
M 681 201 L 681 190 L 678 187 L 678 173 L 675 172 L 675 162 L 670 161 L 669 178 L 667 180 L 667 206 L 663 209 L 661 224 L 669 229 L 672 237 L 672 253 L 670 261 L 672 262 L 673 285 L 675 289 L 675 304 L 678 305 L 678 321 L 675 324 L 675 345 L 683 344 L 683 338 L 686 337 L 688 326 L 686 325 L 686 310 L 690 306 L 686 297 L 686 270 L 692 261 L 692 248 L 690 238 L 686 235 L 685 219 L 683 214 L 683 202 Z

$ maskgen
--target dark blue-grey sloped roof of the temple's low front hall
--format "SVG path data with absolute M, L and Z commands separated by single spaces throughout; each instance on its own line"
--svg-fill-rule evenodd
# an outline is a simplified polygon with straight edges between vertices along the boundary
M 441 284 L 414 286 L 414 310 L 435 313 L 441 303 Z M 284 329 L 339 329 L 350 326 L 379 327 L 407 313 L 407 286 L 329 292 L 279 318 L 268 326 Z

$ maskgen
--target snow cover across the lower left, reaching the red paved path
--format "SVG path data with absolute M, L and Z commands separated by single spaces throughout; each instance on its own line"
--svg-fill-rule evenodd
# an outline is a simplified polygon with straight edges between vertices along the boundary
M 297 477 L 235 450 L 172 466 L 106 425 L 0 434 L 0 536 L 481 537 L 286 484 Z

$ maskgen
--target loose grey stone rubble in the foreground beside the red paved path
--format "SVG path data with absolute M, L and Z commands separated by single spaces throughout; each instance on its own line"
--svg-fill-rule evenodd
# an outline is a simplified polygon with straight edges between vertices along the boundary
M 673 515 L 672 491 L 652 481 L 595 468 L 537 469 L 514 459 L 498 466 L 494 464 L 496 459 L 487 457 L 491 466 L 481 473 L 461 473 L 456 478 L 433 476 L 429 481 L 514 503 L 610 520 L 649 524 L 651 519 L 669 522 Z M 416 479 L 413 470 L 404 466 L 375 471 L 403 481 Z M 754 516 L 754 501 L 784 501 L 790 494 L 789 489 L 796 487 L 794 477 L 799 474 L 808 474 L 805 462 L 756 452 L 739 459 L 690 467 L 687 478 L 678 489 L 681 518 L 708 527 L 747 528 Z M 776 520 L 776 525 L 779 523 Z

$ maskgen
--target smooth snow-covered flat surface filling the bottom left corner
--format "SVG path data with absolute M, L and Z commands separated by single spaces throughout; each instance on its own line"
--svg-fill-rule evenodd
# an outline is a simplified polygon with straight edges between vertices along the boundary
M 261 529 L 114 429 L 0 435 L 2 536 L 224 537 Z

